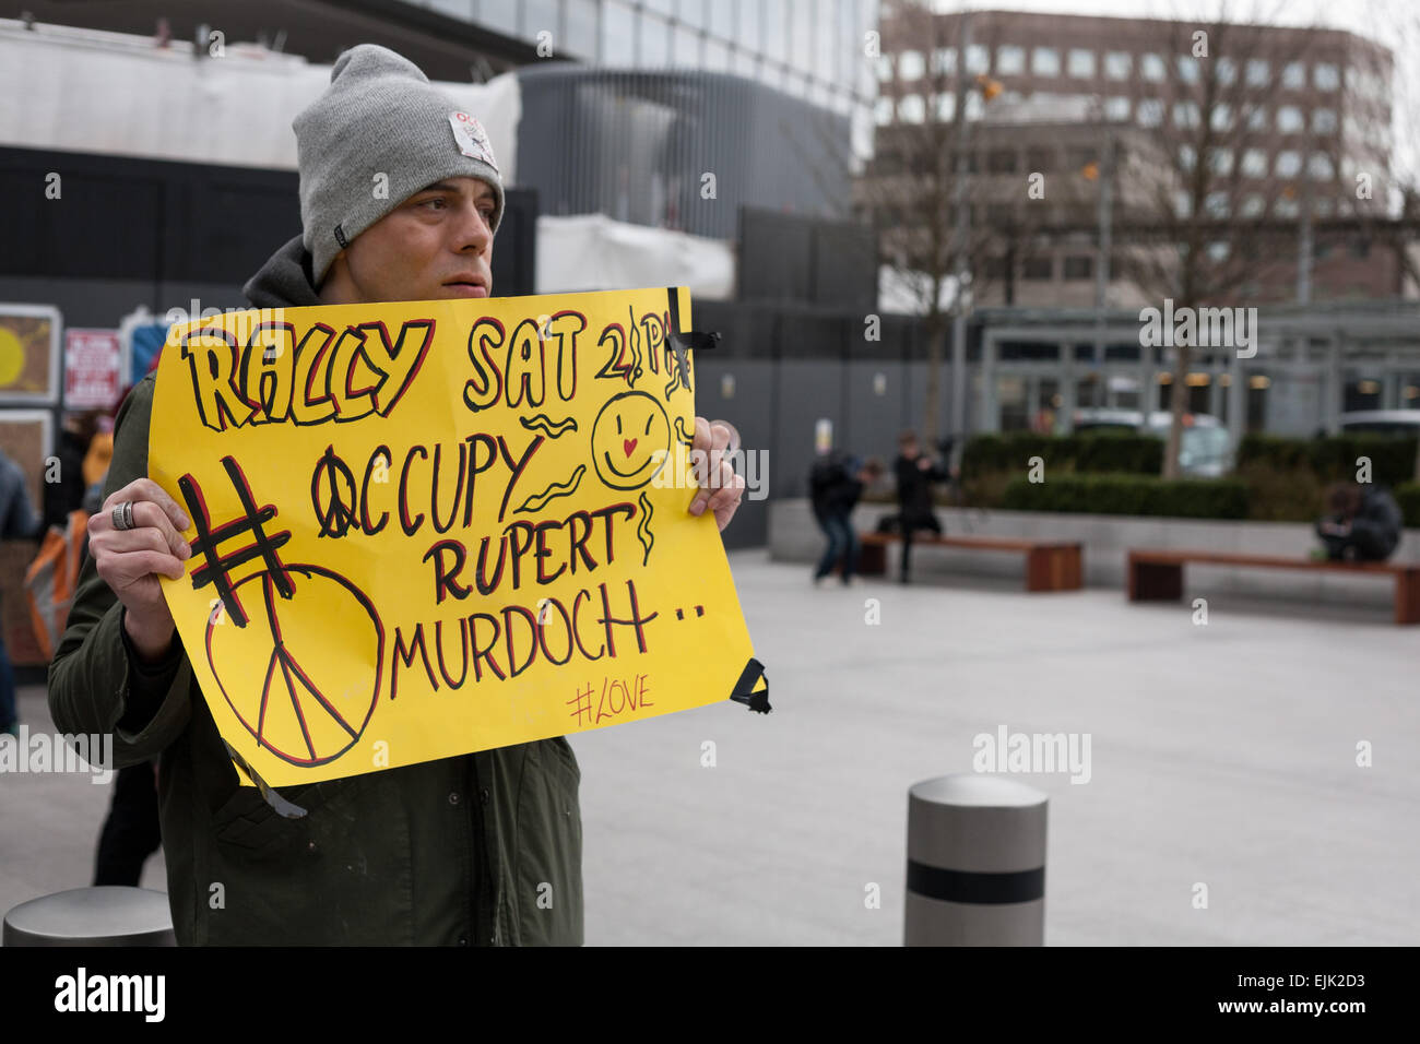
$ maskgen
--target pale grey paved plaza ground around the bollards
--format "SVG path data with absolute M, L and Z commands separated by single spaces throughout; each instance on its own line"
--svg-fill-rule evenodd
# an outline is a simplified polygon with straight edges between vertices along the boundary
M 1048 945 L 1420 942 L 1420 628 L 1387 609 L 1230 597 L 1196 625 L 1118 589 L 730 560 L 774 713 L 571 737 L 588 945 L 900 945 L 907 788 L 1001 726 L 1091 736 L 1088 783 L 1014 777 L 1049 794 Z M 41 687 L 20 713 L 51 729 Z M 0 909 L 89 883 L 108 788 L 0 788 Z

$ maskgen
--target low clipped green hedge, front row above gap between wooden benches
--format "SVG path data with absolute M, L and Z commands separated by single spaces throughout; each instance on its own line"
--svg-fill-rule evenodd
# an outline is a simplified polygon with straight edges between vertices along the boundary
M 1015 479 L 1001 499 L 1011 511 L 1247 518 L 1248 487 L 1238 479 L 1163 480 L 1143 474 L 1056 474 Z

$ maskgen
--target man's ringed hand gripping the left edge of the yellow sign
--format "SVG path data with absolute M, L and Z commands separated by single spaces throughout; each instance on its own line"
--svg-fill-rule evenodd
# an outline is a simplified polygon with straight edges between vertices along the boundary
M 133 527 L 116 530 L 114 509 L 124 501 L 133 504 Z M 158 577 L 182 580 L 183 562 L 192 557 L 182 531 L 190 526 L 178 501 L 152 479 L 133 479 L 89 516 L 94 568 L 126 607 L 128 636 L 149 660 L 162 659 L 172 643 L 176 626 Z

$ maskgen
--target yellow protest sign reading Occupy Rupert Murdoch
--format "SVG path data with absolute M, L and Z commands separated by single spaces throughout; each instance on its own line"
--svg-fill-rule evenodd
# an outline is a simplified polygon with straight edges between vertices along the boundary
M 149 476 L 193 554 L 163 591 L 239 764 L 314 783 L 767 706 L 686 510 L 689 324 L 687 291 L 636 290 L 173 327 Z

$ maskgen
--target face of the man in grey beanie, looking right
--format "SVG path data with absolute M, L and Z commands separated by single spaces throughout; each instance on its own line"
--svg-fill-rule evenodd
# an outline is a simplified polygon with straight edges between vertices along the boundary
M 477 178 L 446 178 L 406 199 L 337 254 L 324 304 L 488 297 L 497 196 Z

